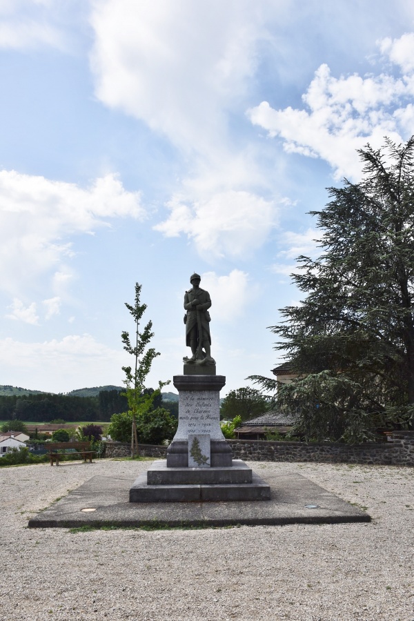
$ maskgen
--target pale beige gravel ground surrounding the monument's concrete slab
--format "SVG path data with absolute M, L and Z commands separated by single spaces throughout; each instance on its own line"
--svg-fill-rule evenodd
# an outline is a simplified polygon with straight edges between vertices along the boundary
M 231 529 L 27 529 L 95 475 L 150 462 L 0 470 L 0 620 L 414 621 L 414 469 L 251 462 L 297 472 L 371 524 Z

